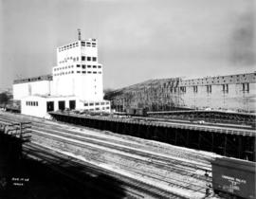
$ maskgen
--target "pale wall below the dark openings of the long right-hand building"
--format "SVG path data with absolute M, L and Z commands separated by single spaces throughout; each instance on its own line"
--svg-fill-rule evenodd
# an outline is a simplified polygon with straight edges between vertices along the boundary
M 255 111 L 256 83 L 249 83 L 249 91 L 243 91 L 243 84 L 229 84 L 229 92 L 224 93 L 222 85 L 211 85 L 207 93 L 206 85 L 198 86 L 197 93 L 192 86 L 186 87 L 186 93 L 180 93 L 181 105 L 185 107 Z

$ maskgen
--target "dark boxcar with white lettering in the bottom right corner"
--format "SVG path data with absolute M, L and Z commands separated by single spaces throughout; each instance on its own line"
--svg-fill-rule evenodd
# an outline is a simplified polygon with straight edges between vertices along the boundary
M 212 189 L 224 198 L 255 199 L 256 163 L 223 157 L 211 162 Z

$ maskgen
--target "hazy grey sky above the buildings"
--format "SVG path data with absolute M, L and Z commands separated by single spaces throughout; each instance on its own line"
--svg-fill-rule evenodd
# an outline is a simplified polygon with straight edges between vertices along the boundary
M 255 71 L 254 0 L 0 0 L 0 88 L 99 40 L 105 88 Z

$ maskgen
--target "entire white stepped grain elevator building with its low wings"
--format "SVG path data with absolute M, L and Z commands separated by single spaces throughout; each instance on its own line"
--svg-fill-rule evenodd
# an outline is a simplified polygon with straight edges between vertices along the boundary
M 57 48 L 52 75 L 13 82 L 13 99 L 21 101 L 22 114 L 40 118 L 65 109 L 110 112 L 102 73 L 97 40 L 81 40 L 79 31 L 78 41 Z

